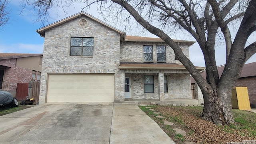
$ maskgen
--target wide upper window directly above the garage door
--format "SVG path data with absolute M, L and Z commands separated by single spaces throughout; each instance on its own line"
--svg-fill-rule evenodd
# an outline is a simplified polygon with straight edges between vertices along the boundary
M 94 38 L 71 38 L 70 56 L 93 56 Z

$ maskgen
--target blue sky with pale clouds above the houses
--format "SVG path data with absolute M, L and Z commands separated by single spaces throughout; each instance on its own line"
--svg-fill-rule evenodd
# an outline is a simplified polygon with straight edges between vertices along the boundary
M 10 10 L 10 21 L 9 24 L 4 26 L 2 30 L 0 30 L 0 53 L 43 53 L 44 46 L 44 38 L 41 37 L 36 30 L 41 28 L 42 25 L 39 22 L 35 22 L 37 17 L 36 13 L 33 14 L 33 11 L 28 11 L 29 9 L 24 9 L 24 12 L 20 15 L 21 1 L 12 0 L 10 1 L 8 8 Z M 58 12 L 58 16 L 56 15 L 56 11 L 50 11 L 50 15 L 52 16 L 52 20 L 50 23 L 56 22 L 57 20 L 63 19 L 67 16 L 76 14 L 80 12 L 82 6 L 74 5 L 72 8 L 66 9 L 68 14 L 64 14 L 61 10 Z M 92 16 L 100 18 L 100 14 L 98 14 L 95 8 L 91 8 L 90 11 L 85 11 Z M 110 24 L 114 26 L 113 24 Z M 118 28 L 118 26 L 115 26 Z M 123 30 L 122 28 L 119 28 Z M 126 30 L 123 30 L 126 31 Z M 150 33 L 138 34 L 140 32 L 127 32 L 127 35 L 135 35 L 135 36 L 148 36 L 148 37 L 156 37 Z M 192 40 L 192 38 L 184 37 L 185 34 L 179 34 L 178 36 L 171 36 L 174 39 L 180 40 Z M 256 40 L 256 35 L 250 36 L 248 40 L 248 44 L 252 43 Z M 225 64 L 226 61 L 226 53 L 224 45 L 216 47 L 216 63 L 217 66 Z M 195 66 L 205 66 L 204 58 L 202 52 L 198 46 L 198 44 L 193 44 L 190 47 L 190 60 L 193 62 Z M 252 56 L 246 63 L 256 62 L 256 54 Z

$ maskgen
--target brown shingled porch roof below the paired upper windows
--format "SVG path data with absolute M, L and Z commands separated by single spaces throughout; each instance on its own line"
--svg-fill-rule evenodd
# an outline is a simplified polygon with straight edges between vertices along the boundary
M 137 63 L 137 62 L 120 62 L 119 65 L 120 69 L 130 69 L 130 70 L 138 70 L 138 69 L 175 69 L 175 70 L 186 70 L 186 68 L 183 65 L 180 64 L 174 64 L 174 63 Z M 198 67 L 196 66 L 196 69 L 198 70 L 204 70 L 204 67 Z

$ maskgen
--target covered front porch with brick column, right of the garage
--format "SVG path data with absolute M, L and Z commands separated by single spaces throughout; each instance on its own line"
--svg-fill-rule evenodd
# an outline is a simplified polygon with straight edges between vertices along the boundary
M 190 74 L 173 63 L 120 63 L 120 102 L 198 105 Z

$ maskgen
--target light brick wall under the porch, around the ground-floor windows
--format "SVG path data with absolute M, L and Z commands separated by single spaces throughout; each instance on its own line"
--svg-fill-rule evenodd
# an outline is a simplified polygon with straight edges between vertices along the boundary
M 148 70 L 125 70 L 125 72 L 126 75 L 132 76 L 132 99 L 134 100 L 159 100 L 159 72 L 167 76 L 168 92 L 164 93 L 165 99 L 192 98 L 190 74 L 184 70 L 151 70 L 152 73 L 145 73 Z M 154 76 L 154 93 L 144 92 L 144 76 Z

